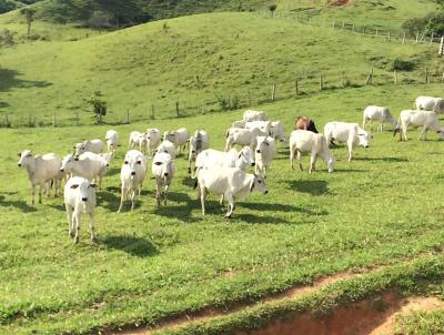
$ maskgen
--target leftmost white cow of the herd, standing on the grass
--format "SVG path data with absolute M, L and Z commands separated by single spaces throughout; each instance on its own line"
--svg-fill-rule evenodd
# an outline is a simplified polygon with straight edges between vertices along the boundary
M 41 203 L 42 187 L 49 195 L 49 184 L 53 181 L 56 181 L 54 196 L 57 196 L 60 182 L 64 179 L 64 173 L 60 172 L 61 159 L 53 153 L 34 156 L 30 150 L 19 153 L 19 158 L 18 166 L 27 170 L 31 182 L 32 204 L 36 204 L 36 185 L 40 186 L 39 203 Z

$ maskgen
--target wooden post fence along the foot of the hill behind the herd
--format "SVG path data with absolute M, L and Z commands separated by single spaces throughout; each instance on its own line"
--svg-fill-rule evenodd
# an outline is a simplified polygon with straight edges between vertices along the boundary
M 184 99 L 172 98 L 168 102 L 153 101 L 137 106 L 133 110 L 124 109 L 112 111 L 104 116 L 105 124 L 122 125 L 135 122 L 147 122 L 148 125 L 155 123 L 155 120 L 169 120 L 201 115 L 214 112 L 251 108 L 253 105 L 273 103 L 286 99 L 301 99 L 323 92 L 332 92 L 349 88 L 370 88 L 380 85 L 403 85 L 403 84 L 431 84 L 441 83 L 444 85 L 444 70 L 425 68 L 421 72 L 392 71 L 380 72 L 369 69 L 367 72 L 349 73 L 337 72 L 306 72 L 294 75 L 293 80 L 266 79 L 265 84 L 251 84 L 224 92 L 214 92 L 214 99 L 202 99 L 199 103 Z M 192 94 L 190 94 L 191 97 Z M 63 111 L 58 109 L 51 113 L 38 116 L 38 112 L 28 115 L 13 115 L 6 113 L 0 116 L 0 128 L 34 128 L 34 126 L 74 126 L 95 124 L 94 114 L 91 111 L 80 112 L 77 110 Z

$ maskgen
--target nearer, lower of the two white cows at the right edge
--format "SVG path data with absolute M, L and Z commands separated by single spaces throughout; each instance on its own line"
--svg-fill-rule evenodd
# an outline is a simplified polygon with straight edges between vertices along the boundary
M 400 113 L 398 125 L 394 133 L 396 134 L 396 132 L 400 132 L 401 141 L 407 141 L 408 125 L 422 128 L 420 140 L 426 140 L 427 130 L 436 131 L 440 133 L 441 138 L 444 138 L 444 129 L 440 125 L 440 121 L 437 120 L 435 112 L 412 110 L 402 111 Z

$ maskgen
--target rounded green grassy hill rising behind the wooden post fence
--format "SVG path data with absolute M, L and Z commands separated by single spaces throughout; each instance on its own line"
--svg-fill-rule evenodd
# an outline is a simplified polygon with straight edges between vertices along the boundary
M 332 29 L 313 29 L 292 20 L 253 13 L 216 13 L 158 21 L 81 41 L 39 41 L 1 51 L 2 114 L 28 114 L 69 121 L 87 119 L 84 99 L 100 90 L 110 122 L 174 115 L 175 102 L 189 114 L 220 109 L 218 97 L 238 97 L 242 105 L 271 95 L 293 95 L 295 77 L 302 91 L 316 91 L 319 75 L 339 85 L 341 73 L 363 84 L 371 68 L 375 83 L 392 81 L 395 58 L 412 61 L 410 79 L 423 81 L 423 68 L 442 73 L 428 44 L 385 42 Z M 401 74 L 400 74 L 401 75 Z

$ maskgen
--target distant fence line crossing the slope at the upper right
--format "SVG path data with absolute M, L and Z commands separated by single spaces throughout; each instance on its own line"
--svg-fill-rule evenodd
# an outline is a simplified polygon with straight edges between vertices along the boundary
M 269 11 L 255 11 L 256 14 L 263 16 L 264 18 L 271 18 L 271 13 Z M 297 12 L 291 11 L 276 11 L 273 14 L 273 18 L 281 18 L 281 19 L 290 19 L 295 21 L 296 23 L 305 24 L 305 26 L 314 26 L 314 27 L 322 27 L 322 28 L 332 28 L 345 32 L 352 32 L 355 34 L 366 35 L 366 37 L 374 37 L 385 39 L 386 41 L 400 41 L 402 44 L 407 43 L 408 41 L 420 44 L 420 43 L 440 43 L 442 37 L 435 35 L 434 33 L 426 34 L 423 31 L 416 31 L 415 33 L 411 33 L 407 30 L 402 29 L 384 29 L 380 27 L 371 27 L 371 26 L 362 26 L 355 22 L 346 22 L 345 20 L 335 20 L 335 19 L 327 19 L 316 17 L 305 17 L 301 16 Z

